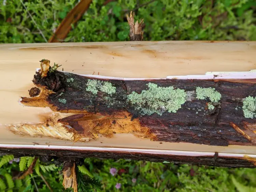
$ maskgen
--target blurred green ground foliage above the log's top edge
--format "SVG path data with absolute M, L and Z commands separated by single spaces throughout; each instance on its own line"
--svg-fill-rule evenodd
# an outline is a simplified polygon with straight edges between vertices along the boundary
M 118 0 L 106 5 L 103 2 L 93 0 L 65 42 L 127 41 L 126 14 L 131 10 L 136 11 L 136 20 L 144 19 L 147 41 L 256 40 L 254 0 Z M 29 0 L 24 2 L 27 10 L 19 0 L 0 3 L 0 42 L 44 42 L 35 23 L 48 40 L 76 3 Z

